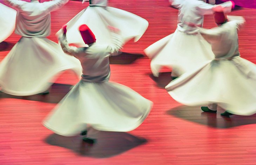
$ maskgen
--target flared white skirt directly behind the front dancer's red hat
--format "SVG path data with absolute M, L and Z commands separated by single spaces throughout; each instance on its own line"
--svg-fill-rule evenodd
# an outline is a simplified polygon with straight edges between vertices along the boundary
M 106 44 L 112 41 L 107 26 L 120 29 L 123 42 L 134 38 L 138 41 L 148 27 L 148 21 L 133 13 L 107 6 L 107 0 L 90 0 L 89 6 L 78 13 L 67 23 L 67 41 L 85 46 L 79 33 L 79 26 L 88 25 L 96 36 L 97 43 Z M 62 35 L 61 30 L 57 35 Z

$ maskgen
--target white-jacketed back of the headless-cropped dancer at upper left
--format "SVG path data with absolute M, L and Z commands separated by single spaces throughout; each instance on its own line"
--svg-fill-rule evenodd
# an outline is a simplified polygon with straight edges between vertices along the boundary
M 50 12 L 66 4 L 68 0 L 53 0 L 40 3 L 37 0 L 5 0 L 5 3 L 18 10 L 15 33 L 27 37 L 50 35 Z

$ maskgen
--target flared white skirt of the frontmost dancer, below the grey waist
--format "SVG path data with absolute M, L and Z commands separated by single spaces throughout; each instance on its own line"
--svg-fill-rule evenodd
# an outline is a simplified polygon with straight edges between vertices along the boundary
M 131 131 L 148 116 L 153 103 L 134 90 L 113 82 L 81 80 L 43 122 L 63 136 L 73 136 L 89 124 L 100 131 Z

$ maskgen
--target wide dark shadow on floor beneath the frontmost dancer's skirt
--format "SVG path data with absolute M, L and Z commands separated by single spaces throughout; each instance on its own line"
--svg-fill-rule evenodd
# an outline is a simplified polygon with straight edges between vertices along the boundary
M 83 142 L 81 136 L 65 137 L 57 134 L 48 136 L 45 141 L 50 145 L 65 147 L 82 156 L 94 158 L 112 157 L 147 142 L 144 138 L 126 132 L 107 131 L 100 131 L 94 144 Z

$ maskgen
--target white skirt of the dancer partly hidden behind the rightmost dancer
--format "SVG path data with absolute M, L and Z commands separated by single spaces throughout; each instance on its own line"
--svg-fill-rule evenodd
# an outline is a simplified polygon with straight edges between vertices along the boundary
M 144 52 L 151 59 L 150 67 L 154 76 L 159 76 L 162 67 L 172 68 L 180 76 L 198 64 L 214 59 L 211 45 L 201 34 L 187 34 L 178 29 L 150 45 Z

